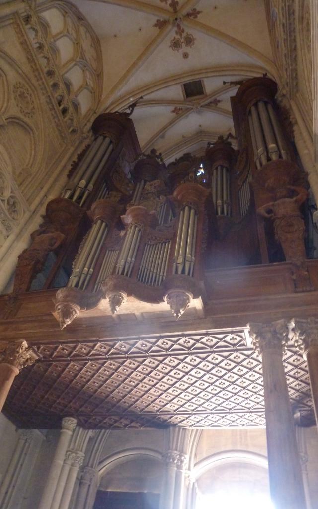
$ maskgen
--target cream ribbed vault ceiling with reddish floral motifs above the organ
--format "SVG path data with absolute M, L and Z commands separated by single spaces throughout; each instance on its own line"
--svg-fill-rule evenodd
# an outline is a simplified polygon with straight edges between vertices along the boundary
M 74 0 L 101 41 L 100 111 L 123 110 L 142 96 L 132 120 L 143 151 L 169 162 L 202 153 L 234 132 L 229 98 L 238 81 L 277 79 L 263 0 Z M 202 80 L 186 99 L 183 83 Z

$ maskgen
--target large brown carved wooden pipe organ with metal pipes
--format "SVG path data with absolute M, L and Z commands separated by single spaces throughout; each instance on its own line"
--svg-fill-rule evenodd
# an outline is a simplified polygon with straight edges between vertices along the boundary
M 40 242 L 47 246 L 41 263 L 36 260 L 26 278 L 30 252 L 21 253 L 15 291 L 30 289 L 41 270 L 48 273 L 42 288 L 57 287 L 63 270 L 67 284 L 56 293 L 56 313 L 65 326 L 70 307 L 74 318 L 83 302 L 108 299 L 117 312 L 132 296 L 166 302 L 179 318 L 200 297 L 206 269 L 285 259 L 298 291 L 309 288 L 299 208 L 306 190 L 275 94 L 269 78 L 247 80 L 232 98 L 239 149 L 219 136 L 203 157 L 185 154 L 167 166 L 155 150 L 140 154 L 128 115 L 98 117 L 93 142 L 33 234 L 34 250 Z M 294 254 L 291 222 L 298 232 Z M 55 262 L 47 270 L 49 245 Z

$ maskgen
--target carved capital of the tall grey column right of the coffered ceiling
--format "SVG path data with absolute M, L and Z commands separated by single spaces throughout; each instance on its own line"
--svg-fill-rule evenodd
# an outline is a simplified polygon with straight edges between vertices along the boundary
M 284 352 L 288 341 L 286 320 L 277 320 L 270 323 L 249 323 L 248 325 L 252 346 L 258 355 L 262 355 L 267 350 Z

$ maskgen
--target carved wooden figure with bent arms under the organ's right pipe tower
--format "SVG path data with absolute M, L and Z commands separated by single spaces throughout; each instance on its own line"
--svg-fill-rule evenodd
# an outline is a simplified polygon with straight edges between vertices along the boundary
M 307 191 L 303 187 L 286 186 L 277 189 L 274 202 L 257 210 L 258 214 L 274 221 L 275 237 L 287 262 L 299 264 L 306 259 L 305 224 L 299 210 L 306 198 Z

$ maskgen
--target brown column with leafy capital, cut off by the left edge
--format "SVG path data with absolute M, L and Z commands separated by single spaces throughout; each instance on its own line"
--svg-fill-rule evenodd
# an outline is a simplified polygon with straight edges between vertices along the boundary
M 0 412 L 6 402 L 13 380 L 25 366 L 30 366 L 38 358 L 26 341 L 0 342 Z

